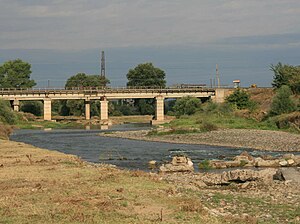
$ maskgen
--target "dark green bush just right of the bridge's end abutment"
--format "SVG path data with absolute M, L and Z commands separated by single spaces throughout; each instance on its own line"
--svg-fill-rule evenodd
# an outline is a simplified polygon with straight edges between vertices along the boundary
M 241 89 L 236 89 L 225 101 L 231 105 L 235 105 L 240 110 L 253 109 L 255 107 L 255 103 L 250 100 L 249 94 Z

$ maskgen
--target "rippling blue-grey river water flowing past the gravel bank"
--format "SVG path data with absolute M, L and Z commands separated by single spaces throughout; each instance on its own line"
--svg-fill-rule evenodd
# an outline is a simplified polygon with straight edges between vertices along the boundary
M 116 125 L 109 130 L 56 129 L 17 130 L 11 140 L 25 142 L 40 148 L 73 154 L 94 163 L 109 163 L 126 169 L 148 170 L 148 162 L 170 161 L 172 156 L 184 153 L 198 164 L 205 159 L 232 158 L 248 151 L 251 155 L 280 155 L 277 152 L 262 152 L 232 147 L 187 145 L 162 142 L 147 142 L 121 138 L 102 137 L 98 134 L 109 131 L 141 130 L 145 125 Z M 196 165 L 195 165 L 196 168 Z

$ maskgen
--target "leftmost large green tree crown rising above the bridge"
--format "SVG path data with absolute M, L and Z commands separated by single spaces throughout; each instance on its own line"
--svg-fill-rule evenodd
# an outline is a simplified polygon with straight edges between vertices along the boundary
M 0 88 L 32 88 L 31 65 L 21 59 L 4 62 L 0 66 Z

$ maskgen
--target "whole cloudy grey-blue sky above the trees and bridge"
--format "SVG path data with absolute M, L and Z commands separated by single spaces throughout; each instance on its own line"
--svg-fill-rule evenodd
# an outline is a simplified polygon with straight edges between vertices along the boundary
M 299 0 L 0 0 L 0 63 L 32 64 L 38 87 L 78 72 L 99 74 L 100 51 L 112 86 L 144 62 L 167 84 L 270 86 L 269 67 L 299 65 Z M 49 81 L 48 81 L 49 80 Z

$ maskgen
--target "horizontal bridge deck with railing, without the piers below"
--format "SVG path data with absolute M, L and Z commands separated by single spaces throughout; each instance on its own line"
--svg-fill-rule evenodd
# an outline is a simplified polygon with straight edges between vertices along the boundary
M 72 88 L 72 89 L 0 89 L 0 98 L 6 100 L 51 99 L 108 99 L 154 98 L 158 95 L 166 98 L 183 96 L 209 97 L 215 95 L 212 88 Z

